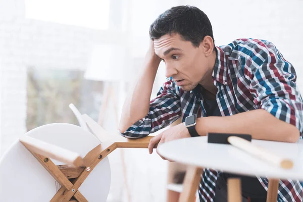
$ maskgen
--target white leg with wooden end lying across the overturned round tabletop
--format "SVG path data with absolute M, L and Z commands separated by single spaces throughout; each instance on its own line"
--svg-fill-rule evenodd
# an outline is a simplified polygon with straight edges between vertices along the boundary
M 80 157 L 80 155 L 71 150 L 56 146 L 54 144 L 49 144 L 30 136 L 23 136 L 19 140 L 32 153 L 55 159 L 73 166 L 84 166 L 83 159 Z

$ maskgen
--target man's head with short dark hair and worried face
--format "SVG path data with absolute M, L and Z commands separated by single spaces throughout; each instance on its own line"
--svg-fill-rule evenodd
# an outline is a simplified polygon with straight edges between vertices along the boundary
M 196 7 L 173 7 L 150 25 L 156 54 L 165 62 L 166 77 L 192 90 L 214 65 L 214 37 L 207 15 Z

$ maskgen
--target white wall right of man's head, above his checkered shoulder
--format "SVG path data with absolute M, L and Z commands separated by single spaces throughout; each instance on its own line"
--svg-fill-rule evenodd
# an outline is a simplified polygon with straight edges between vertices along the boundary
M 237 38 L 261 38 L 273 42 L 296 69 L 303 92 L 303 1 L 231 0 L 186 1 L 204 11 L 213 26 L 216 45 Z

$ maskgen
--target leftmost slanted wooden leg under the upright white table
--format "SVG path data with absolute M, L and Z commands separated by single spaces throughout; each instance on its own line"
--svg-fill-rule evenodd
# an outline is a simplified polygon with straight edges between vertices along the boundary
M 183 191 L 179 202 L 194 201 L 195 193 L 200 183 L 203 168 L 188 167 L 183 181 Z

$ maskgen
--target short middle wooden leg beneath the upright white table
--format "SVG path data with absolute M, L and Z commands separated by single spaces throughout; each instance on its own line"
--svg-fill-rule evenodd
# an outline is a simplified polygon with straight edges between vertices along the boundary
M 228 202 L 242 202 L 242 190 L 240 178 L 227 179 Z

